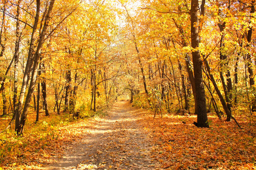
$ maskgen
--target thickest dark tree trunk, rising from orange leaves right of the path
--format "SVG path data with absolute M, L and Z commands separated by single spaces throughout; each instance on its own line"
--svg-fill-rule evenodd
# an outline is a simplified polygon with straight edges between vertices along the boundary
M 207 118 L 207 107 L 205 100 L 205 91 L 203 84 L 203 73 L 202 65 L 203 62 L 200 57 L 200 52 L 197 49 L 199 47 L 200 37 L 199 37 L 199 2 L 198 0 L 191 0 L 191 46 L 192 51 L 192 60 L 194 67 L 194 78 L 195 78 L 195 90 L 196 90 L 196 101 L 197 101 L 197 126 L 198 127 L 207 127 L 208 118 Z

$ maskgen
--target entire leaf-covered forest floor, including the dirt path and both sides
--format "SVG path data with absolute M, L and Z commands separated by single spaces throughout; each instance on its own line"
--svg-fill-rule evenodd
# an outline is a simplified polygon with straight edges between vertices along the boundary
M 131 107 L 129 101 L 115 103 L 108 114 L 75 122 L 43 120 L 36 126 L 44 128 L 43 133 L 35 129 L 23 138 L 5 138 L 0 146 L 0 167 L 256 169 L 255 124 L 242 118 L 238 121 L 243 129 L 216 116 L 209 116 L 209 129 L 197 128 L 192 125 L 196 116 L 153 118 L 143 109 Z

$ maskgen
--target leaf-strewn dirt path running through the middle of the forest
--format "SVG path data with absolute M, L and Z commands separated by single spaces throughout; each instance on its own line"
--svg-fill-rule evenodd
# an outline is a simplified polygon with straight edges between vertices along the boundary
M 98 121 L 89 135 L 48 169 L 160 169 L 135 113 L 139 110 L 129 101 L 118 101 L 108 118 Z

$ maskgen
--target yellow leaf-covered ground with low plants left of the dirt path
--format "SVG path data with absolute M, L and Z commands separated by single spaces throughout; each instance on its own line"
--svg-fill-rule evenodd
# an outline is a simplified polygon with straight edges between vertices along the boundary
M 84 127 L 94 126 L 97 119 L 73 121 L 68 113 L 48 117 L 42 113 L 35 124 L 35 117 L 35 113 L 28 114 L 22 137 L 14 135 L 14 125 L 0 134 L 0 169 L 43 169 L 89 134 Z M 1 130 L 9 122 L 10 118 L 1 118 Z

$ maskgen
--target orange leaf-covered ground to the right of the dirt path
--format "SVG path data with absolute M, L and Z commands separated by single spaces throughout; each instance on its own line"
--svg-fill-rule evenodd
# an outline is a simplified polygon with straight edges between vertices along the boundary
M 152 156 L 164 169 L 256 169 L 255 124 L 240 121 L 239 129 L 234 122 L 209 119 L 209 129 L 192 125 L 196 116 L 146 115 L 139 122 L 150 132 Z

